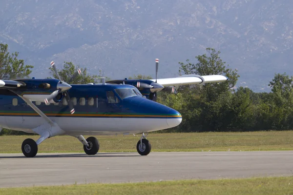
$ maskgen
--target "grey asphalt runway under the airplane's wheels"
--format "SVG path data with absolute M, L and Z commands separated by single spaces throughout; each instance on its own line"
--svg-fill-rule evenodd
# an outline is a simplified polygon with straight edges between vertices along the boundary
M 0 154 L 0 187 L 293 176 L 293 151 Z

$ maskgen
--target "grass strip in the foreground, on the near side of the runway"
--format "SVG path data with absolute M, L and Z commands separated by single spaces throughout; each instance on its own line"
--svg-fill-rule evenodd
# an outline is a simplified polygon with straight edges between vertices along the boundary
M 293 177 L 0 188 L 0 195 L 293 195 Z

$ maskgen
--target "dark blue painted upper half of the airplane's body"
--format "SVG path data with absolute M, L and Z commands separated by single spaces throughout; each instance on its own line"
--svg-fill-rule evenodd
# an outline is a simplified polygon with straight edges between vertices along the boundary
M 51 81 L 53 80 L 53 81 Z M 39 88 L 39 84 L 43 82 L 47 82 L 51 84 L 51 89 L 42 89 Z M 54 87 L 58 80 L 54 79 L 35 79 L 33 81 L 26 82 L 25 90 L 13 90 L 15 93 L 19 95 L 25 94 L 51 94 L 57 88 Z M 71 98 L 76 98 L 77 104 L 74 105 L 76 110 L 76 114 L 70 116 L 75 117 L 79 116 L 79 114 L 109 114 L 113 115 L 113 117 L 131 117 L 129 115 L 133 115 L 133 117 L 145 116 L 149 115 L 150 117 L 179 117 L 181 116 L 177 111 L 159 104 L 157 102 L 153 102 L 143 97 L 129 97 L 121 99 L 116 93 L 115 89 L 121 88 L 131 88 L 135 89 L 134 86 L 130 85 L 115 85 L 115 84 L 106 84 L 106 85 L 71 85 L 72 88 L 68 90 L 69 96 Z M 118 98 L 118 102 L 109 103 L 107 100 L 106 92 L 113 91 L 115 97 Z M 18 104 L 13 105 L 13 98 L 18 99 Z M 84 105 L 80 104 L 81 98 L 85 99 Z M 93 102 L 91 105 L 88 104 L 88 99 L 93 98 Z M 63 105 L 63 99 L 59 99 L 59 104 L 55 105 L 51 103 L 50 105 L 45 105 L 45 103 L 41 103 L 41 105 L 37 105 L 37 107 L 44 112 L 45 114 L 50 114 L 50 116 L 55 117 L 52 114 L 70 114 L 69 108 L 67 105 Z M 58 101 L 56 101 L 58 102 Z M 20 97 L 14 95 L 13 93 L 8 93 L 6 89 L 0 90 L 0 116 L 3 113 L 19 113 L 21 116 L 22 113 L 35 113 L 34 110 L 28 106 Z M 118 116 L 119 115 L 119 116 Z M 7 116 L 7 115 L 5 115 Z M 37 115 L 36 115 L 37 116 Z M 62 117 L 62 116 L 60 116 Z M 84 116 L 86 117 L 86 116 Z M 98 116 L 101 117 L 101 116 Z M 105 117 L 109 117 L 106 115 Z

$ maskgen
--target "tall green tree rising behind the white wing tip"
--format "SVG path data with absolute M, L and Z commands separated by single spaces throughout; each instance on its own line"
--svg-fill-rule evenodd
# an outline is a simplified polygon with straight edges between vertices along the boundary
M 185 110 L 188 118 L 184 122 L 185 128 L 191 131 L 221 131 L 227 130 L 233 117 L 232 94 L 239 75 L 220 58 L 220 52 L 212 48 L 206 49 L 207 54 L 196 56 L 196 64 L 187 59 L 181 65 L 179 74 L 195 75 L 224 75 L 228 81 L 219 83 L 205 83 L 204 85 L 182 86 L 179 90 L 185 97 Z M 185 116 L 187 113 L 182 113 Z

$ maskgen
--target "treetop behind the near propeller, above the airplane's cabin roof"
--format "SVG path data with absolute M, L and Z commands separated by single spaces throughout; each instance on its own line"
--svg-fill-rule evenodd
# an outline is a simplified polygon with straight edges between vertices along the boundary
M 51 67 L 51 75 L 54 78 L 57 78 L 57 75 L 54 72 L 54 69 Z M 61 80 L 63 80 L 64 82 L 68 82 L 70 78 L 72 78 L 72 76 L 77 72 L 77 68 L 75 67 L 75 65 L 72 62 L 66 62 L 64 61 L 63 64 L 63 69 L 62 70 L 58 70 L 58 74 L 61 78 Z M 86 72 L 86 68 L 81 68 L 81 74 L 79 76 L 77 76 L 75 79 L 73 79 L 69 84 L 86 84 L 86 83 L 90 83 L 90 82 L 94 82 L 94 77 L 101 77 L 101 71 L 99 72 L 99 76 L 97 75 L 93 75 L 90 76 L 87 74 Z

